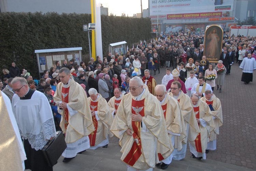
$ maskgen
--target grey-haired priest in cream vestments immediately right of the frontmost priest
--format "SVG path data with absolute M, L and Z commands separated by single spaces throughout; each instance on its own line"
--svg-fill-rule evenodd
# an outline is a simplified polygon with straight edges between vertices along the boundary
M 174 152 L 182 149 L 183 141 L 186 138 L 186 130 L 179 102 L 167 93 L 164 85 L 157 85 L 155 92 L 156 98 L 161 104 L 163 115 L 165 116 L 167 132 L 171 140 L 170 145 L 174 148 L 174 151 L 168 158 L 160 161 L 162 162 L 161 169 L 166 169 L 172 161 Z M 159 165 L 160 163 L 156 166 Z

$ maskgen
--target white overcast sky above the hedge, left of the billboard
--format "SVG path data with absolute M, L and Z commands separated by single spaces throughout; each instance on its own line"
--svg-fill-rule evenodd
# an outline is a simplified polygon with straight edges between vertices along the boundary
M 133 16 L 133 14 L 141 13 L 140 0 L 100 0 L 103 7 L 109 8 L 110 13 L 121 16 L 125 13 L 126 16 Z M 142 9 L 148 8 L 148 0 L 142 0 Z

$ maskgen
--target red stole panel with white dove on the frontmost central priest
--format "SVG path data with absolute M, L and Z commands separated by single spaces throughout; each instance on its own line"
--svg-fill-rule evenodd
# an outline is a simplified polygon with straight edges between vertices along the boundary
M 145 115 L 144 113 L 144 100 L 136 101 L 132 99 L 131 103 L 131 112 L 135 114 L 135 111 L 140 113 L 140 115 L 143 117 Z M 140 158 L 142 152 L 141 152 L 141 139 L 140 139 L 140 122 L 134 122 L 131 121 L 132 130 L 133 130 L 133 138 L 134 142 L 131 146 L 131 150 L 123 160 L 127 165 L 133 166 L 136 161 Z

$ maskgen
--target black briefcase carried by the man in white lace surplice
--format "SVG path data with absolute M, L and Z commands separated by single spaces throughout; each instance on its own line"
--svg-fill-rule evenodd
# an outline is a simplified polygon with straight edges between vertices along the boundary
M 45 159 L 50 167 L 56 164 L 57 160 L 66 148 L 67 144 L 62 131 L 57 131 L 56 137 L 45 144 L 42 149 Z

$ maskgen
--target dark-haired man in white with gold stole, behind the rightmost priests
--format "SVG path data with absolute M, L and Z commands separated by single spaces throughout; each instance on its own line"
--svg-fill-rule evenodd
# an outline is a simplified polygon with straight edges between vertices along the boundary
M 212 87 L 210 86 L 210 84 L 207 84 L 205 82 L 205 77 L 204 76 L 201 76 L 198 78 L 198 82 L 199 83 L 196 83 L 192 89 L 191 89 L 191 94 L 198 94 L 199 95 L 199 98 L 203 97 L 204 96 L 204 92 L 205 90 L 211 90 L 212 92 Z

